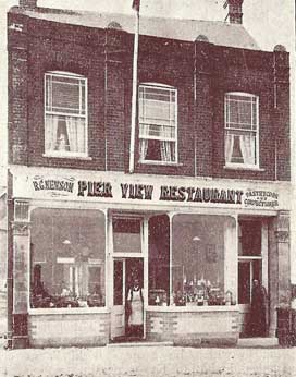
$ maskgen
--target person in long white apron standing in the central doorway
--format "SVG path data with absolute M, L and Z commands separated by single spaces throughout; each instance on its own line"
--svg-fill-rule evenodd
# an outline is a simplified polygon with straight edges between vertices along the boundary
M 135 278 L 133 285 L 128 291 L 127 304 L 130 306 L 130 333 L 131 336 L 141 337 L 144 324 L 144 299 L 143 289 L 139 285 L 138 278 Z

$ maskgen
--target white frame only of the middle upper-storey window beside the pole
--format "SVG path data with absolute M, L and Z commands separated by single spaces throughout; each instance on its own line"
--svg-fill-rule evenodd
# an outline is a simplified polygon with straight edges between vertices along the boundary
M 145 139 L 153 139 L 153 141 L 168 141 L 173 142 L 175 145 L 175 159 L 173 161 L 163 161 L 163 160 L 148 160 L 148 159 L 141 159 L 139 156 L 139 162 L 140 163 L 149 163 L 149 165 L 177 165 L 178 163 L 178 154 L 177 154 L 177 89 L 170 85 L 159 84 L 159 83 L 141 83 L 139 84 L 139 92 L 140 89 L 145 88 L 151 88 L 151 89 L 162 89 L 168 90 L 170 94 L 174 94 L 175 96 L 175 112 L 174 112 L 174 119 L 175 119 L 175 126 L 174 126 L 174 137 L 160 137 L 160 136 L 151 136 L 151 135 L 145 135 L 145 137 L 140 134 L 140 120 L 138 118 L 138 125 L 139 125 L 139 141 Z M 138 94 L 138 106 L 140 106 L 139 101 L 139 94 Z

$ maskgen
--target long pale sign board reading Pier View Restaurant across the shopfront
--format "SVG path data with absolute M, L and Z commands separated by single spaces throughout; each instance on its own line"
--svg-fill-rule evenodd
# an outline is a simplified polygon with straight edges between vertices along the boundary
M 45 170 L 45 168 L 42 169 Z M 13 196 L 36 199 L 66 199 L 99 203 L 137 203 L 185 206 L 226 206 L 288 209 L 288 186 L 275 182 L 202 180 L 176 177 L 83 174 L 42 171 L 14 173 Z

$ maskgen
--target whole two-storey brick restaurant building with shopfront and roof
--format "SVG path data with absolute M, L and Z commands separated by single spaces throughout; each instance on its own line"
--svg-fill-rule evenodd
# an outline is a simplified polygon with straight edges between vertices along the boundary
M 126 338 L 135 277 L 146 340 L 236 343 L 254 279 L 275 336 L 288 53 L 259 50 L 242 1 L 232 23 L 140 17 L 131 143 L 134 17 L 36 2 L 8 14 L 10 345 Z

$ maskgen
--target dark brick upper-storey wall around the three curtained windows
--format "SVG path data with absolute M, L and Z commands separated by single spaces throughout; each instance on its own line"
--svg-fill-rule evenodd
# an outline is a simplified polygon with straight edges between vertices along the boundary
M 11 12 L 9 25 L 10 162 L 127 171 L 133 35 L 35 20 Z M 90 160 L 44 157 L 44 75 L 70 71 L 88 78 Z M 138 82 L 178 94 L 178 165 L 138 163 L 138 173 L 255 180 L 289 179 L 288 54 L 210 42 L 140 36 Z M 276 87 L 274 86 L 276 84 Z M 260 97 L 260 171 L 224 169 L 224 94 Z M 275 98 L 276 93 L 276 98 Z

